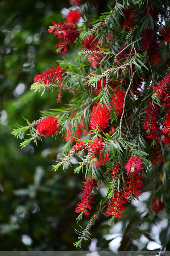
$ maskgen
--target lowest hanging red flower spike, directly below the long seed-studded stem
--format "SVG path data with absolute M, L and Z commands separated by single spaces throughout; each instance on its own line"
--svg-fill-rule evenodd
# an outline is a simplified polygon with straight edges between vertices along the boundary
M 121 188 L 119 188 L 119 191 L 116 191 L 114 198 L 112 198 L 115 202 L 110 202 L 111 205 L 108 208 L 110 212 L 106 212 L 107 216 L 112 216 L 112 218 L 117 218 L 118 220 L 122 219 L 123 212 L 125 211 L 124 204 L 127 203 L 123 193 L 124 191 Z

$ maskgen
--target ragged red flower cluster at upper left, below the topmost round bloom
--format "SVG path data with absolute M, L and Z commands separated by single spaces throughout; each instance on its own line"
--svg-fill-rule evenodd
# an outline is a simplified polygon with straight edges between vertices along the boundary
M 69 23 L 55 23 L 52 21 L 53 26 L 51 26 L 48 31 L 52 33 L 54 30 L 54 35 L 58 36 L 61 41 L 58 44 L 55 44 L 55 47 L 58 47 L 58 52 L 65 54 L 67 51 L 67 46 L 72 46 L 75 42 L 79 33 L 77 32 L 76 25 Z

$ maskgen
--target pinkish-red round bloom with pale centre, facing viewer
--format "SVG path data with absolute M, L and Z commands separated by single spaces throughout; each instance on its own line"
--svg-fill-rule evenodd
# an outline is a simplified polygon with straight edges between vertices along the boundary
M 141 157 L 132 157 L 128 160 L 125 165 L 127 174 L 137 175 L 142 171 L 142 160 Z

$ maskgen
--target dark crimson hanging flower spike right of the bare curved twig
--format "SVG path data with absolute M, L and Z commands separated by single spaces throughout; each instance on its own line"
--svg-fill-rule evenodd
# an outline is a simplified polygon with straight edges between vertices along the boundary
M 158 105 L 153 107 L 150 102 L 146 107 L 146 118 L 145 124 L 143 125 L 144 129 L 147 130 L 147 137 L 160 140 L 158 136 L 162 135 L 162 131 L 160 130 L 160 123 L 158 122 L 159 109 Z

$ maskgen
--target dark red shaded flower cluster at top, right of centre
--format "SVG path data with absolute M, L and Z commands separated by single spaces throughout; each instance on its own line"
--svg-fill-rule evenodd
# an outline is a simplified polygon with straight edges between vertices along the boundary
M 133 19 L 136 18 L 135 11 L 132 11 L 133 9 L 134 7 L 123 9 L 124 17 L 122 18 L 122 21 L 120 21 L 123 25 L 119 26 L 119 28 L 125 27 L 126 30 L 130 30 L 132 28 L 130 25 L 133 24 Z

